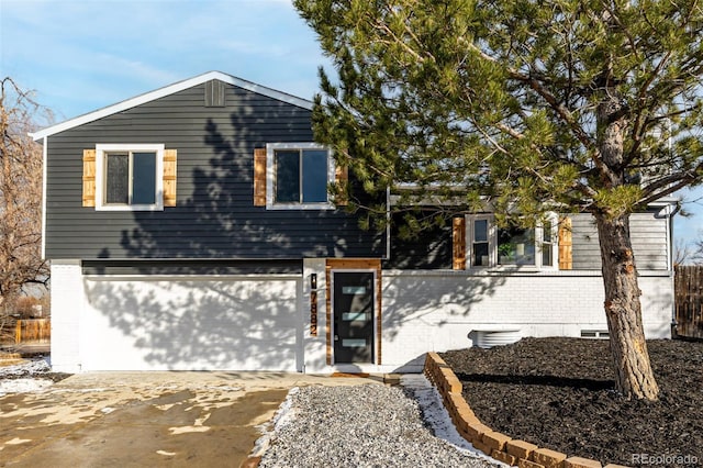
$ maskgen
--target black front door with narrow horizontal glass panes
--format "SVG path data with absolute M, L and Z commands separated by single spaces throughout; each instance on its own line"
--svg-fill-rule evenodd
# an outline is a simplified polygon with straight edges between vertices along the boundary
M 334 361 L 373 361 L 373 272 L 333 271 Z

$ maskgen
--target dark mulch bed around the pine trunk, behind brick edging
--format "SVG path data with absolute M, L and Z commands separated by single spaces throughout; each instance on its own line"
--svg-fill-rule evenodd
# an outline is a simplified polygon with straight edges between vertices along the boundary
M 625 466 L 703 466 L 703 343 L 647 342 L 657 402 L 615 392 L 607 341 L 523 338 L 442 353 L 482 423 L 540 447 Z

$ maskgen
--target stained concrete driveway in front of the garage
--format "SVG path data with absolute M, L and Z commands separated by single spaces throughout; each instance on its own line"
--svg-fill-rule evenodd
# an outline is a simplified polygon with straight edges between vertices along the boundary
M 0 398 L 0 466 L 239 467 L 293 387 L 378 382 L 276 372 L 87 372 Z

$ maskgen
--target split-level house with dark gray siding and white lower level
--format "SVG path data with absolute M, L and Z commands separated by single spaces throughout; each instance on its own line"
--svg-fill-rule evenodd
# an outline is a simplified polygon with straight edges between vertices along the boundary
M 327 194 L 353 177 L 311 109 L 213 71 L 33 134 L 55 370 L 416 370 L 428 350 L 606 333 L 589 215 L 364 231 Z M 668 205 L 632 232 L 647 336 L 668 337 Z

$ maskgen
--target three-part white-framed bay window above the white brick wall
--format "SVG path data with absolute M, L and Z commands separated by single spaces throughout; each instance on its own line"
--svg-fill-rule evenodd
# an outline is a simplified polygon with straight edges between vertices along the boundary
M 492 215 L 468 216 L 470 268 L 556 266 L 556 215 L 536 227 L 499 227 Z

